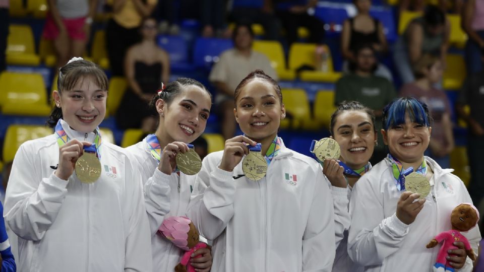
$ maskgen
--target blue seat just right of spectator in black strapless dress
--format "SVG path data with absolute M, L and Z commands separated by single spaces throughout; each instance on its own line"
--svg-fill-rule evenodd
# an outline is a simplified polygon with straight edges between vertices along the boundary
M 159 35 L 158 46 L 165 49 L 170 55 L 170 68 L 175 71 L 191 71 L 193 66 L 189 63 L 188 46 L 181 36 Z

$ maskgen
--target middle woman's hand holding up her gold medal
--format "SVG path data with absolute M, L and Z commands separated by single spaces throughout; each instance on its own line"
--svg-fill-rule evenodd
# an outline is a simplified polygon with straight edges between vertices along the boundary
M 249 154 L 249 148 L 244 143 L 248 143 L 251 146 L 255 146 L 257 144 L 244 135 L 238 135 L 225 141 L 222 161 L 220 162 L 220 166 L 218 168 L 232 172 L 235 166 L 237 166 L 237 164 L 242 160 L 244 155 Z

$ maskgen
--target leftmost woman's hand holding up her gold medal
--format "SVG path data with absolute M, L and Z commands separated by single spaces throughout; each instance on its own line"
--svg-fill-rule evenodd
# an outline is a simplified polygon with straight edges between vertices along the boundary
M 59 148 L 59 165 L 54 175 L 60 179 L 68 180 L 76 169 L 76 162 L 84 153 L 83 146 L 90 146 L 89 142 L 73 139 Z

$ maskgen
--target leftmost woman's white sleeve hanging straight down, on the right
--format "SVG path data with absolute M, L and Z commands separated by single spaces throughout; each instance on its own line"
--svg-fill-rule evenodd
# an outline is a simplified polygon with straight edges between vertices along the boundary
M 152 271 L 150 224 L 143 197 L 141 173 L 126 163 L 125 182 L 128 233 L 125 245 L 125 271 Z

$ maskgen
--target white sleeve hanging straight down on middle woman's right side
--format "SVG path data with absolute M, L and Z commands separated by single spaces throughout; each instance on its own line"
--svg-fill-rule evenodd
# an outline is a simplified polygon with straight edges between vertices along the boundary
M 302 271 L 331 271 L 336 253 L 333 198 L 323 171 L 317 171 L 316 181 L 308 222 L 302 235 Z

